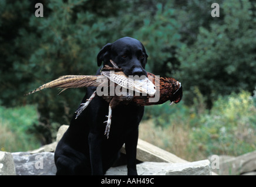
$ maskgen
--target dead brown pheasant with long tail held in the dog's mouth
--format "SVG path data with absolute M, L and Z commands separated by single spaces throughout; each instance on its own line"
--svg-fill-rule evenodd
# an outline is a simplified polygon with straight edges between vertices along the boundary
M 147 77 L 140 79 L 134 79 L 127 77 L 122 69 L 110 60 L 113 67 L 105 65 L 101 72 L 101 75 L 65 75 L 55 79 L 51 82 L 43 84 L 39 88 L 27 93 L 35 93 L 44 88 L 62 88 L 63 91 L 68 88 L 81 88 L 88 86 L 96 86 L 97 89 L 92 93 L 89 99 L 85 103 L 81 103 L 80 108 L 76 110 L 76 118 L 83 112 L 83 110 L 89 105 L 90 101 L 96 96 L 102 96 L 105 101 L 109 103 L 109 113 L 106 124 L 105 135 L 109 137 L 112 109 L 120 103 L 128 105 L 129 103 L 135 103 L 140 106 L 147 105 L 159 105 L 168 100 L 173 103 L 178 103 L 182 98 L 182 86 L 180 82 L 174 78 L 158 77 L 150 72 L 147 72 Z M 151 80 L 150 80 L 151 79 Z M 119 88 L 117 88 L 119 86 Z M 101 93 L 101 88 L 110 87 L 110 93 Z M 120 89 L 122 88 L 122 91 Z M 111 94 L 111 89 L 115 92 Z M 108 90 L 108 89 L 107 89 Z

